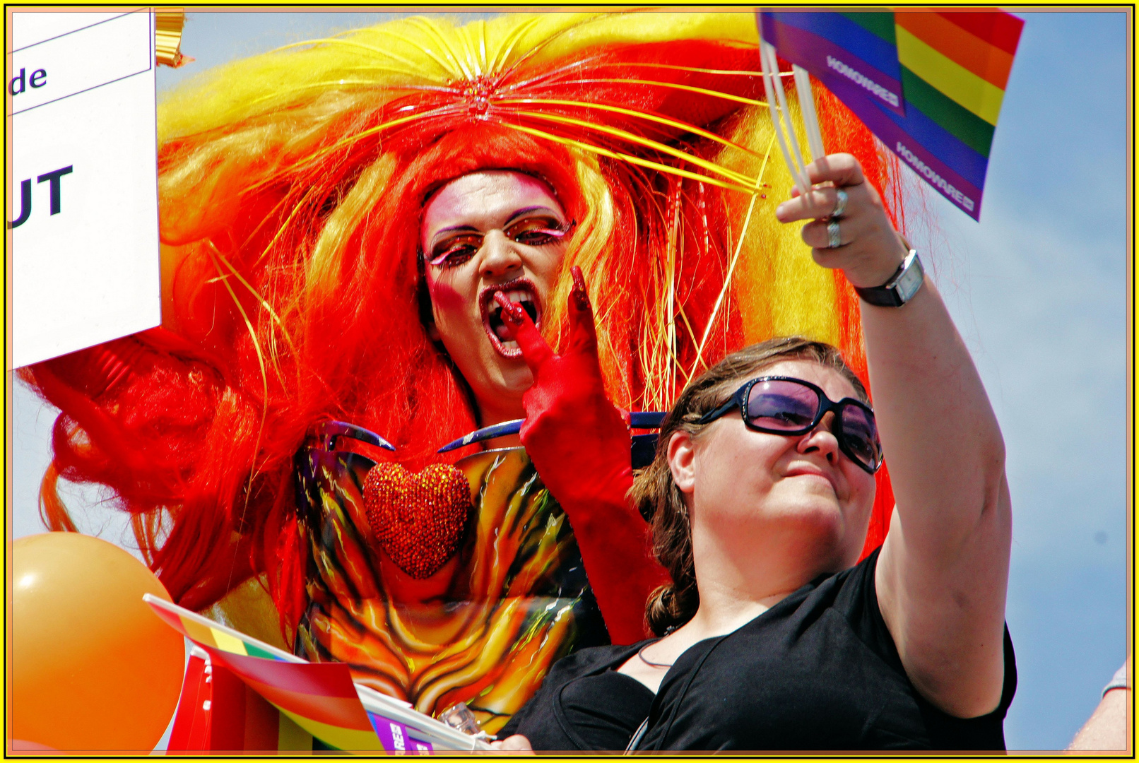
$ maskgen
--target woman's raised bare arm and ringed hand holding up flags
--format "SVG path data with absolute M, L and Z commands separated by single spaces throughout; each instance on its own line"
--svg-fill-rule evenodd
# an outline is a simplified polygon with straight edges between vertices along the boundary
M 830 248 L 828 222 L 803 239 L 816 262 L 857 287 L 891 280 L 908 253 L 854 157 L 810 166 L 831 181 L 777 211 L 781 222 L 822 218 L 849 202 Z M 918 691 L 944 712 L 993 711 L 1003 682 L 1005 594 L 1011 506 L 1005 444 L 981 377 L 928 274 L 901 307 L 865 301 L 870 388 L 896 499 L 877 568 L 883 618 Z

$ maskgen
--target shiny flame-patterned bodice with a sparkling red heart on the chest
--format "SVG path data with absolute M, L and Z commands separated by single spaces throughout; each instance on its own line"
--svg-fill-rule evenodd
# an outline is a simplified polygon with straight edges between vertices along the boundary
M 297 453 L 311 555 L 295 651 L 423 713 L 464 702 L 494 733 L 558 658 L 608 643 L 570 524 L 522 448 L 409 475 L 377 466 L 377 441 L 329 424 Z M 385 564 L 449 577 L 445 593 L 409 601 Z

